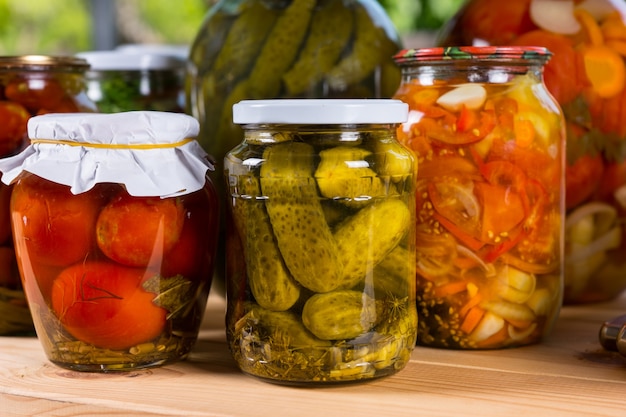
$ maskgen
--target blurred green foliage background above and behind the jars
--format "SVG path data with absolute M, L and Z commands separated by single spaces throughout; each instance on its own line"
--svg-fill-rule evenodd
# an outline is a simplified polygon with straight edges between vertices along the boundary
M 463 0 L 379 0 L 406 47 L 427 46 Z M 0 0 L 0 55 L 122 44 L 190 46 L 213 0 Z

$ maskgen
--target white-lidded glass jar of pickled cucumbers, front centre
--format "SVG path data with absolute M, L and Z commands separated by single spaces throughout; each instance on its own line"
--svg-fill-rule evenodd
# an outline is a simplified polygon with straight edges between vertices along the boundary
M 398 100 L 244 100 L 225 158 L 227 337 L 274 382 L 402 369 L 417 333 L 415 162 Z

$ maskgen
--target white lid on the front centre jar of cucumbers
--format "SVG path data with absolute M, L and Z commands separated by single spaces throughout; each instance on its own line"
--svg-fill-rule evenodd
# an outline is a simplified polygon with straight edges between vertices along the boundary
M 404 123 L 409 106 L 391 99 L 243 100 L 233 106 L 236 124 Z

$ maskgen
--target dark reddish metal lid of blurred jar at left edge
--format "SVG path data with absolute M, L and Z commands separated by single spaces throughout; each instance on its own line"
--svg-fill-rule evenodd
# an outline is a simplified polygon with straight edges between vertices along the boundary
M 13 55 L 0 57 L 0 70 L 77 71 L 89 68 L 87 60 L 75 56 Z

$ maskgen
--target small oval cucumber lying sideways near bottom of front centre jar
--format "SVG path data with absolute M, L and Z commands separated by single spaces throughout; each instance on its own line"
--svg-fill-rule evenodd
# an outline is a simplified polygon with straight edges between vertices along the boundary
M 322 340 L 353 339 L 372 329 L 378 320 L 375 299 L 360 291 L 315 294 L 302 309 L 302 323 Z

